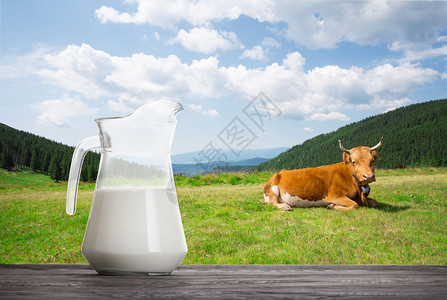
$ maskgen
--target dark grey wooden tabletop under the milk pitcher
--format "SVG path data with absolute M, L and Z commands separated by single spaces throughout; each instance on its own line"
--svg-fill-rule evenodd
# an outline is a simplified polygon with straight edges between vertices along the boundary
M 89 265 L 0 265 L 1 299 L 447 299 L 447 266 L 185 265 L 101 276 Z

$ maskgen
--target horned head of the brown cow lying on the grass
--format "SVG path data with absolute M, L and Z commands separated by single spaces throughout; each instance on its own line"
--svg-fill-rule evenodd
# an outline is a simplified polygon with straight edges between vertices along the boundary
M 382 146 L 383 137 L 380 142 L 372 148 L 369 147 L 355 147 L 351 150 L 346 149 L 340 144 L 340 149 L 343 151 L 343 161 L 351 168 L 352 175 L 360 185 L 367 185 L 376 180 L 374 175 L 374 164 L 378 159 L 376 150 Z

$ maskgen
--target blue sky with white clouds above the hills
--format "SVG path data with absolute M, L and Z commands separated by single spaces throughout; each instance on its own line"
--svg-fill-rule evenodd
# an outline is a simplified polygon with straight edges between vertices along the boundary
M 444 1 L 2 0 L 0 122 L 75 145 L 95 118 L 170 98 L 173 153 L 291 147 L 446 98 L 446 15 Z

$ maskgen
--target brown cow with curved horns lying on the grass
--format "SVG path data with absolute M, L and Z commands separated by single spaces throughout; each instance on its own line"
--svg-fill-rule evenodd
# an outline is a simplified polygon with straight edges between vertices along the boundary
M 316 168 L 282 170 L 264 185 L 265 203 L 283 210 L 291 207 L 326 206 L 330 209 L 356 209 L 360 206 L 376 207 L 377 201 L 368 198 L 369 183 L 375 181 L 374 163 L 380 142 L 372 147 L 346 149 L 343 162 Z

